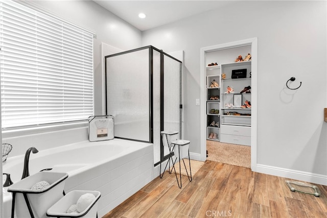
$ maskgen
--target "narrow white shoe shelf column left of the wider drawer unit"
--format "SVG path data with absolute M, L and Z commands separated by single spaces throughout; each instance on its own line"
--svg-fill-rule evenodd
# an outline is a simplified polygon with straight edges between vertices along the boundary
M 206 67 L 206 117 L 207 140 L 219 141 L 220 139 L 220 65 Z M 210 87 L 215 81 L 219 86 Z M 213 137 L 213 135 L 215 136 Z

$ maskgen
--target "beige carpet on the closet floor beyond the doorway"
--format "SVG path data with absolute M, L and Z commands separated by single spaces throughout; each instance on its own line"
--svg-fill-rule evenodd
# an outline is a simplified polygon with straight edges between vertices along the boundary
M 251 168 L 251 147 L 206 141 L 207 160 Z

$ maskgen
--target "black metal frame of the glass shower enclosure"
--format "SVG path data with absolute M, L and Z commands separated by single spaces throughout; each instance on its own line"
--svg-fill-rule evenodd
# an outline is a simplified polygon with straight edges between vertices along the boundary
M 133 49 L 133 50 L 129 50 L 129 51 L 125 51 L 125 52 L 120 52 L 120 53 L 116 53 L 116 54 L 112 54 L 112 55 L 107 55 L 105 56 L 105 101 L 106 101 L 106 114 L 108 114 L 108 108 L 107 108 L 107 58 L 110 57 L 114 57 L 114 56 L 119 56 L 119 55 L 124 55 L 124 54 L 128 54 L 128 53 L 132 53 L 132 52 L 137 52 L 137 51 L 141 51 L 141 50 L 145 50 L 145 49 L 149 49 L 149 74 L 150 74 L 150 79 L 149 79 L 149 105 L 150 105 L 150 113 L 149 113 L 149 118 L 150 118 L 150 122 L 149 122 L 149 141 L 142 141 L 142 140 L 136 140 L 136 139 L 130 139 L 130 138 L 122 138 L 122 137 L 115 137 L 115 138 L 122 138 L 122 139 L 126 139 L 126 140 L 132 140 L 132 141 L 142 141 L 142 142 L 148 142 L 148 143 L 153 143 L 153 50 L 157 51 L 160 53 L 160 132 L 164 131 L 164 55 L 174 59 L 175 61 L 178 61 L 179 63 L 182 63 L 180 60 L 174 58 L 173 56 L 165 53 L 162 50 L 157 49 L 156 47 L 152 46 L 152 45 L 148 45 L 148 46 L 144 46 L 144 47 L 139 47 L 137 49 Z M 179 109 L 182 108 L 182 104 L 180 104 Z M 181 114 L 180 114 L 180 124 L 182 124 L 181 122 Z M 180 128 L 181 131 L 181 128 Z M 161 138 L 161 136 L 160 136 Z M 160 140 L 160 161 L 157 163 L 154 163 L 154 166 L 160 164 L 162 161 L 165 161 L 169 158 L 169 154 L 164 156 L 164 144 L 162 143 L 162 140 Z

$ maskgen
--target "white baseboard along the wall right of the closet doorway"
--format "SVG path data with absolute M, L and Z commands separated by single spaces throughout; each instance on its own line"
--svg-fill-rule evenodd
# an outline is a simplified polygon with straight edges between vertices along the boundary
M 256 164 L 256 172 L 289 179 L 296 179 L 305 182 L 311 182 L 320 185 L 327 185 L 327 175 L 295 171 L 294 169 L 268 166 L 263 164 Z

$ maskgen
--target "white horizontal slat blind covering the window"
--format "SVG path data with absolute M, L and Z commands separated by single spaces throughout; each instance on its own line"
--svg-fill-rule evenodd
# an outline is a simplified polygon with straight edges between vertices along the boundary
M 0 10 L 2 127 L 93 115 L 93 34 L 12 1 Z

